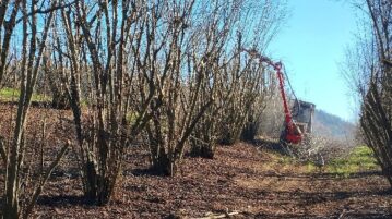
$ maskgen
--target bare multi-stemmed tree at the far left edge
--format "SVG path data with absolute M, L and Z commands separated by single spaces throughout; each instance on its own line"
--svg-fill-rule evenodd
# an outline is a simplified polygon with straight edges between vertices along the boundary
M 7 2 L 5 2 L 7 4 Z M 37 32 L 37 5 L 47 7 L 45 9 L 44 14 L 47 14 L 43 21 L 45 25 L 43 26 L 43 32 L 38 35 Z M 27 8 L 29 5 L 29 8 Z M 20 60 L 20 97 L 17 104 L 17 112 L 15 118 L 15 126 L 13 130 L 12 139 L 4 146 L 4 142 L 1 143 L 1 157 L 5 161 L 5 183 L 4 183 L 4 204 L 2 210 L 3 218 L 27 218 L 32 212 L 35 200 L 39 196 L 43 186 L 47 180 L 47 178 L 41 181 L 39 184 L 39 188 L 34 193 L 28 208 L 22 209 L 22 204 L 26 202 L 25 199 L 20 199 L 21 196 L 21 183 L 25 180 L 23 179 L 22 169 L 24 167 L 25 160 L 25 124 L 27 121 L 28 109 L 32 102 L 32 97 L 34 93 L 34 88 L 37 82 L 38 71 L 40 69 L 41 58 L 46 48 L 46 40 L 48 38 L 48 33 L 50 29 L 50 25 L 54 17 L 54 11 L 58 7 L 57 1 L 50 2 L 50 4 L 41 2 L 33 1 L 27 3 L 26 0 L 23 1 L 14 1 L 11 8 L 8 9 L 8 5 L 1 4 L 1 10 L 10 10 L 11 16 L 8 21 L 4 21 L 4 14 L 0 15 L 1 25 L 4 25 L 4 28 L 8 29 L 4 35 L 4 39 L 2 41 L 1 49 L 1 62 L 0 62 L 0 83 L 2 76 L 4 75 L 4 71 L 7 71 L 5 59 L 9 52 L 9 42 L 12 37 L 13 28 L 16 28 L 19 21 L 22 22 L 22 26 L 19 28 L 22 36 L 22 51 L 21 51 L 21 60 Z M 41 8 L 44 9 L 44 8 Z M 21 15 L 17 19 L 17 15 Z M 16 20 L 17 19 L 17 20 Z M 31 33 L 28 33 L 31 32 Z M 13 40 L 17 40 L 14 38 Z M 27 50 L 28 45 L 28 50 Z M 16 49 L 16 48 L 15 48 Z M 17 59 L 17 56 L 16 58 Z M 67 146 L 68 147 L 68 146 Z M 64 147 L 64 148 L 67 148 Z M 61 157 L 64 155 L 66 150 L 59 154 L 57 161 L 52 163 L 49 168 L 48 172 L 51 172 L 52 169 L 58 165 Z M 25 195 L 25 194 L 24 194 Z

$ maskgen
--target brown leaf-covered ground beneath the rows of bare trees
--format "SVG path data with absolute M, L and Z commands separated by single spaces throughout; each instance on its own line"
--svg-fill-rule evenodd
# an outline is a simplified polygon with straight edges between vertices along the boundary
M 5 108 L 0 107 L 2 135 L 10 115 Z M 62 124 L 71 118 L 69 111 L 35 108 L 31 114 L 31 142 L 39 137 L 34 125 L 43 117 L 51 121 L 47 154 L 72 136 L 72 126 Z M 70 151 L 46 184 L 34 218 L 200 218 L 234 211 L 233 218 L 392 218 L 390 185 L 378 171 L 349 178 L 309 172 L 263 144 L 245 143 L 218 147 L 214 159 L 186 157 L 176 178 L 150 174 L 147 158 L 145 148 L 129 148 L 115 198 L 99 207 L 83 198 Z M 45 163 L 51 159 L 46 157 Z M 1 163 L 1 187 L 2 182 Z

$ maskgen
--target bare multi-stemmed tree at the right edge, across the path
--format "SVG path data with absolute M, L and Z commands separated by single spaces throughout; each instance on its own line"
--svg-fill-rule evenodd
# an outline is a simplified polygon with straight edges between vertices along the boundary
M 360 38 L 359 48 L 348 53 L 345 76 L 361 100 L 365 143 L 392 186 L 392 2 L 364 0 L 358 7 L 369 15 L 372 38 Z

